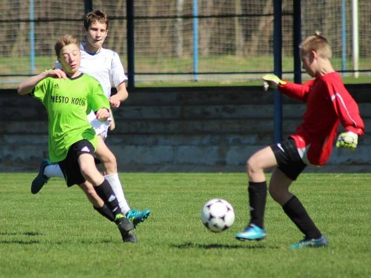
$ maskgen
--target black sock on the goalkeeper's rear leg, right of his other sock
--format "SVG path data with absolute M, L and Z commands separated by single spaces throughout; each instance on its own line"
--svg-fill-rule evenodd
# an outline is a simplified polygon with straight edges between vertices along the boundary
M 320 230 L 311 220 L 306 212 L 303 204 L 296 196 L 293 196 L 286 204 L 282 206 L 283 211 L 288 215 L 292 222 L 299 228 L 299 230 L 309 238 L 321 237 Z

